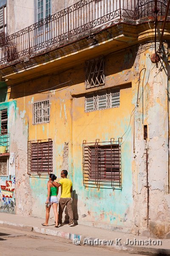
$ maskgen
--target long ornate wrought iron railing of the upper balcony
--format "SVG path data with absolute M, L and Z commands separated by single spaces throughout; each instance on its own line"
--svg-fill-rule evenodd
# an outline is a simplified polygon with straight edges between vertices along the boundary
M 16 60 L 110 21 L 154 17 L 154 0 L 81 0 L 12 35 L 0 36 L 0 64 Z M 167 0 L 158 0 L 164 16 Z

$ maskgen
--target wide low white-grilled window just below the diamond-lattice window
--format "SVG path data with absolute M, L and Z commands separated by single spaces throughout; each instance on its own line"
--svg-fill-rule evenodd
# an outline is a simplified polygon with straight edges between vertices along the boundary
M 85 96 L 85 112 L 120 106 L 120 90 L 108 89 Z

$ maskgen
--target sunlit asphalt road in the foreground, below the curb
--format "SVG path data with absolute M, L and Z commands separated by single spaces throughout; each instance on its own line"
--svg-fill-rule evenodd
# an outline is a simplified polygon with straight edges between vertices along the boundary
M 56 256 L 141 255 L 108 248 L 75 245 L 67 239 L 0 226 L 0 256 L 47 256 L 50 254 Z

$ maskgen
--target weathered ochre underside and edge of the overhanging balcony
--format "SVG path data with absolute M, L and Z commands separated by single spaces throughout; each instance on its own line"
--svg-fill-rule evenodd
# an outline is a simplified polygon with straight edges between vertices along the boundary
M 159 36 L 163 22 L 157 27 Z M 164 39 L 170 40 L 170 22 L 167 22 Z M 89 38 L 94 35 L 94 38 Z M 24 81 L 37 79 L 42 76 L 57 74 L 68 70 L 79 63 L 95 58 L 99 55 L 108 55 L 135 44 L 153 41 L 154 21 L 132 23 L 108 23 L 102 28 L 96 28 L 84 33 L 84 37 L 66 39 L 60 44 L 42 49 L 32 54 L 20 57 L 16 61 L 1 65 L 1 81 L 8 86 L 20 84 Z M 159 40 L 159 38 L 157 38 Z

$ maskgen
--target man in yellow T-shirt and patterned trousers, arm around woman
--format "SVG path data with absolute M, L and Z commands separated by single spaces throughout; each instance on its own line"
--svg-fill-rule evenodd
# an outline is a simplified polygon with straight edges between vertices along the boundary
M 71 199 L 72 181 L 67 178 L 67 175 L 68 175 L 67 170 L 62 170 L 62 172 L 61 172 L 62 179 L 59 180 L 59 183 L 53 182 L 53 184 L 56 187 L 61 186 L 61 197 L 59 199 L 58 225 L 60 226 L 62 224 L 62 212 L 66 206 L 67 210 L 68 210 L 68 216 L 69 216 L 68 227 L 72 227 L 74 225 L 73 211 L 72 211 L 72 199 Z

